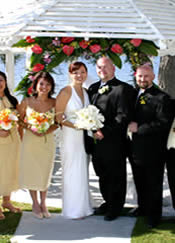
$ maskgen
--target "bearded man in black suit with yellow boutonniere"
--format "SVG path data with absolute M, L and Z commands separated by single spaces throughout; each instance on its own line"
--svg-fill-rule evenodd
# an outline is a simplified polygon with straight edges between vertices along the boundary
M 136 70 L 139 87 L 132 133 L 131 165 L 138 196 L 136 216 L 146 216 L 150 228 L 158 225 L 162 214 L 162 186 L 166 142 L 172 122 L 170 97 L 153 84 L 150 65 Z

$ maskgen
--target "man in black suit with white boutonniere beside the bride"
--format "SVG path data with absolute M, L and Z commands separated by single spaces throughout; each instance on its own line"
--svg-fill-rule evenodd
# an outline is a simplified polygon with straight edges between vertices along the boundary
M 132 120 L 134 89 L 115 78 L 115 66 L 107 57 L 98 59 L 96 71 L 100 81 L 88 90 L 91 104 L 105 117 L 104 127 L 94 133 L 92 162 L 99 176 L 104 203 L 95 215 L 104 220 L 117 218 L 126 194 L 126 129 Z

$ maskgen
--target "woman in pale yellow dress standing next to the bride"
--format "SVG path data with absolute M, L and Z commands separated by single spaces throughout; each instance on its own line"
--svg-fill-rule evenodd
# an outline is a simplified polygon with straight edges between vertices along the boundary
M 51 215 L 46 207 L 47 189 L 53 169 L 55 155 L 54 130 L 58 128 L 55 123 L 55 99 L 52 98 L 55 83 L 47 72 L 36 74 L 33 81 L 34 95 L 25 98 L 20 105 L 21 120 L 28 121 L 31 111 L 49 114 L 53 124 L 44 133 L 34 131 L 29 123 L 23 136 L 20 158 L 20 187 L 29 189 L 33 201 L 33 215 L 39 219 L 49 218 Z M 38 192 L 40 193 L 40 202 Z

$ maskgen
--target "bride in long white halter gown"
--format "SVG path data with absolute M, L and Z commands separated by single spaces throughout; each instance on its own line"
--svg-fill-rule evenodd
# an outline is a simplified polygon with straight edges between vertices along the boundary
M 72 83 L 56 98 L 56 114 L 62 126 L 61 157 L 63 168 L 63 211 L 66 218 L 82 219 L 93 213 L 88 183 L 88 159 L 84 148 L 83 130 L 74 126 L 72 114 L 86 107 L 89 99 L 82 88 L 87 78 L 87 67 L 82 62 L 69 66 Z

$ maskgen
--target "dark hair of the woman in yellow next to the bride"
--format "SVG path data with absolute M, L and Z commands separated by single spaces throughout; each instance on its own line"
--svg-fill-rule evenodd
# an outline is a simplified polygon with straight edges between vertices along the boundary
M 51 98 L 52 95 L 54 94 L 55 82 L 54 82 L 53 77 L 48 72 L 39 72 L 39 73 L 36 74 L 36 76 L 35 76 L 35 78 L 33 80 L 33 90 L 35 92 L 34 96 L 37 97 L 37 95 L 38 95 L 37 92 L 36 92 L 36 86 L 38 84 L 39 79 L 41 79 L 41 78 L 47 80 L 47 82 L 49 84 L 51 84 L 51 86 L 52 86 L 51 87 L 51 91 L 48 93 L 48 98 Z

